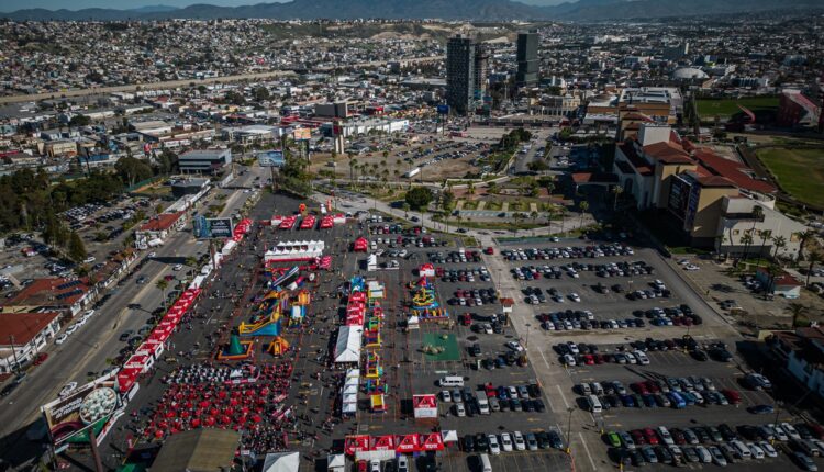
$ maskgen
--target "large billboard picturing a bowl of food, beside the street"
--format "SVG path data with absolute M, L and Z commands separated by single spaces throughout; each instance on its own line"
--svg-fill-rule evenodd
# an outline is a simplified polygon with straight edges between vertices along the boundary
M 114 383 L 110 373 L 41 407 L 55 446 L 88 442 L 90 428 L 100 437 L 109 430 L 123 406 Z

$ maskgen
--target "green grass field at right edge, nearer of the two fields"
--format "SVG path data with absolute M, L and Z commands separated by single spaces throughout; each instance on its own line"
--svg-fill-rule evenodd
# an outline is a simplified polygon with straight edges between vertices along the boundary
M 824 148 L 770 147 L 758 151 L 781 190 L 795 199 L 824 207 Z

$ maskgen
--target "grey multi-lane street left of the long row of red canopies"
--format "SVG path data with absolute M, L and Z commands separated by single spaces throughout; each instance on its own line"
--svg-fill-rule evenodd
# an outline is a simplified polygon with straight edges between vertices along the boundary
M 249 186 L 255 176 L 266 172 L 254 167 L 234 184 Z M 233 198 L 226 200 L 225 212 L 231 214 L 240 209 L 250 194 L 235 191 Z M 3 407 L 0 408 L 0 450 L 14 447 L 21 440 L 26 442 L 25 428 L 37 419 L 41 405 L 54 400 L 63 385 L 70 381 L 82 384 L 88 380 L 87 372 L 99 373 L 111 367 L 107 360 L 118 357 L 125 346 L 119 340 L 121 333 L 127 329 L 136 333 L 151 313 L 162 305 L 163 295 L 155 286 L 157 280 L 164 274 L 182 273 L 174 272 L 171 266 L 187 257 L 205 254 L 208 245 L 196 240 L 191 229 L 186 229 L 174 234 L 164 246 L 153 251 L 156 252 L 155 258 L 147 260 L 121 285 L 112 289 L 111 299 L 66 342 L 49 346 L 46 362 L 33 369 L 23 384 L 3 398 Z M 138 277 L 145 277 L 146 283 L 137 284 L 135 280 Z

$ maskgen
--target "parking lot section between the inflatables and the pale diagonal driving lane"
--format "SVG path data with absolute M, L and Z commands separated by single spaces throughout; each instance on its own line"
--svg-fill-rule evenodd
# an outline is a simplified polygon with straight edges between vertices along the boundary
M 370 233 L 376 231 L 370 229 Z M 380 244 L 377 244 L 378 237 Z M 480 255 L 474 258 L 470 251 L 464 250 L 461 258 L 458 239 L 449 236 L 421 234 L 402 236 L 400 240 L 398 237 L 397 234 L 370 237 L 376 241 L 375 252 L 381 255 L 378 258 L 379 266 L 391 268 L 391 260 L 397 260 L 399 270 L 385 269 L 369 272 L 367 276 L 385 283 L 385 306 L 407 307 L 398 312 L 396 333 L 387 333 L 383 336 L 381 355 L 387 359 L 387 366 L 397 366 L 397 371 L 390 369 L 388 375 L 390 384 L 398 385 L 399 398 L 408 401 L 413 394 L 437 394 L 437 420 L 419 423 L 438 427 L 439 430 L 457 431 L 461 452 L 449 450 L 439 458 L 442 470 L 467 470 L 467 467 L 472 467 L 471 461 L 477 459 L 478 453 L 488 452 L 488 446 L 479 446 L 478 441 L 472 440 L 479 435 L 514 431 L 520 431 L 523 436 L 536 435 L 541 447 L 537 450 L 502 450 L 500 456 L 492 457 L 495 470 L 567 470 L 568 456 L 561 451 L 565 442 L 556 415 L 547 405 L 545 392 L 539 387 L 535 390 L 535 371 L 528 363 L 525 364 L 519 359 L 521 356 L 515 347 L 520 346 L 519 339 L 512 327 L 500 317 L 495 286 L 489 271 L 482 269 Z M 428 239 L 431 237 L 434 237 L 434 240 Z M 423 240 L 427 241 L 424 247 L 417 247 L 419 244 L 415 241 Z M 408 307 L 415 293 L 410 289 L 410 282 L 420 283 L 419 269 L 430 262 L 437 274 L 426 279 L 434 288 L 437 301 L 446 308 L 448 318 L 421 322 L 417 328 L 404 329 Z M 457 300 L 468 301 L 470 297 L 458 299 L 456 293 L 471 293 L 472 290 L 483 291 L 485 294 L 472 296 L 472 306 L 460 305 Z M 483 325 L 488 325 L 488 331 L 483 329 Z M 393 325 L 389 323 L 388 327 L 392 328 Z M 445 335 L 454 336 L 458 347 L 456 357 L 441 359 L 443 356 L 424 352 L 425 346 L 433 342 L 433 339 Z M 508 342 L 514 344 L 508 346 Z M 463 378 L 464 387 L 441 386 L 438 381 L 447 375 Z M 527 391 L 526 386 L 530 385 L 532 389 Z M 510 387 L 521 390 L 520 394 L 514 395 L 514 400 L 509 393 Z M 444 401 L 443 391 L 448 392 L 448 401 Z M 456 396 L 459 402 L 456 402 Z M 480 413 L 478 408 L 483 396 L 489 401 L 488 414 Z M 464 409 L 460 414 L 458 403 Z M 399 419 L 410 414 L 411 408 L 405 402 L 401 402 L 397 407 L 390 406 L 389 411 L 383 413 L 361 412 L 359 430 L 372 434 L 408 431 L 409 425 Z M 547 436 L 544 438 L 545 441 L 541 441 L 541 435 L 544 432 Z M 472 438 L 469 439 L 468 451 L 467 436 Z

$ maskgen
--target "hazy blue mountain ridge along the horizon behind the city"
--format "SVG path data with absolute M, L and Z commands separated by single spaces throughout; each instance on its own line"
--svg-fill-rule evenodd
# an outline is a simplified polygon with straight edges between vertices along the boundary
M 126 21 L 168 19 L 272 19 L 272 20 L 354 20 L 364 18 L 442 20 L 565 20 L 605 21 L 734 14 L 769 10 L 821 9 L 821 0 L 579 0 L 557 5 L 526 4 L 514 0 L 292 0 L 285 3 L 257 3 L 219 7 L 209 3 L 183 8 L 163 4 L 132 10 L 24 9 L 2 13 L 14 21 Z

